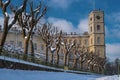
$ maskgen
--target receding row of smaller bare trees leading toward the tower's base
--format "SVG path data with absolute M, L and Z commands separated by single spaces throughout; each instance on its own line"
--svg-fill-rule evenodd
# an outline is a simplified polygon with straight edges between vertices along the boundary
M 58 31 L 57 28 L 53 27 L 51 24 L 44 24 L 38 30 L 40 37 L 46 45 L 46 63 L 49 61 L 49 51 L 52 54 L 51 63 L 53 63 L 53 53 L 56 54 L 56 64 L 59 65 L 61 60 L 60 49 L 63 48 L 63 60 L 64 66 L 69 66 L 69 62 L 72 62 L 73 68 L 78 68 L 83 70 L 84 66 L 87 66 L 87 69 L 100 72 L 104 69 L 105 58 L 101 58 L 94 53 L 89 53 L 88 49 L 81 47 L 79 42 L 73 40 L 69 42 L 66 35 L 62 31 Z M 69 55 L 72 56 L 73 60 L 70 60 Z

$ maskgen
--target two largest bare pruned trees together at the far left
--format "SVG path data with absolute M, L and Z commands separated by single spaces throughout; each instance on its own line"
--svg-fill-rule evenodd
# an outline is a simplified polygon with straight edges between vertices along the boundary
M 36 8 L 33 2 L 30 2 L 29 6 L 27 6 L 28 0 L 23 0 L 23 4 L 20 7 L 14 7 L 13 5 L 10 6 L 10 2 L 11 0 L 6 0 L 6 1 L 0 0 L 0 8 L 2 9 L 2 12 L 4 15 L 3 33 L 2 33 L 2 38 L 0 40 L 0 54 L 2 52 L 9 30 L 12 28 L 14 24 L 17 23 L 22 29 L 22 35 L 24 40 L 23 59 L 26 60 L 27 54 L 28 54 L 29 42 L 31 45 L 31 56 L 34 57 L 34 47 L 33 47 L 33 41 L 32 41 L 33 29 L 36 27 L 39 20 L 47 12 L 47 6 L 44 6 L 42 8 L 41 2 Z M 10 16 L 7 10 L 9 6 L 10 6 L 11 12 L 14 15 L 12 21 L 10 20 Z

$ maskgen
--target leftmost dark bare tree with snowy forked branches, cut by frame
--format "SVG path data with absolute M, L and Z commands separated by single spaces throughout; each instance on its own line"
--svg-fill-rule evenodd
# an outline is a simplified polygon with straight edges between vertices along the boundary
M 3 34 L 2 34 L 1 41 L 0 41 L 0 54 L 2 52 L 2 48 L 3 48 L 3 45 L 5 43 L 8 31 L 16 23 L 16 21 L 18 19 L 18 15 L 21 14 L 25 10 L 26 3 L 27 3 L 27 0 L 24 0 L 22 6 L 20 6 L 17 9 L 14 9 L 13 20 L 9 23 L 9 17 L 10 16 L 8 14 L 7 8 L 10 5 L 10 1 L 11 0 L 7 0 L 6 2 L 3 2 L 3 0 L 0 0 L 0 8 L 2 9 L 2 13 L 4 15 Z

